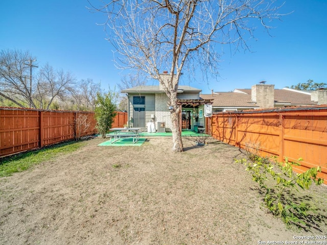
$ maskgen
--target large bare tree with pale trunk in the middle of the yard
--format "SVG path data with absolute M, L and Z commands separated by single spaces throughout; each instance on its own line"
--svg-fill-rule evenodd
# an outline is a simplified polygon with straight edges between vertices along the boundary
M 164 88 L 173 108 L 172 149 L 180 152 L 177 87 L 182 70 L 201 67 L 204 73 L 218 75 L 218 45 L 249 48 L 246 41 L 253 36 L 254 21 L 269 29 L 266 21 L 279 18 L 274 4 L 274 0 L 113 0 L 92 7 L 108 16 L 108 39 L 118 64 L 145 72 Z M 170 71 L 168 80 L 162 70 Z

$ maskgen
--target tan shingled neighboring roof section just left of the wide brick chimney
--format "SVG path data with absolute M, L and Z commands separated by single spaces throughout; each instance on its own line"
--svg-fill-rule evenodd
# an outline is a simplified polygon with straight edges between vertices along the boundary
M 213 94 L 200 94 L 200 97 L 206 100 L 214 99 L 213 107 L 259 107 L 255 106 L 251 101 L 251 94 L 246 93 L 216 92 Z

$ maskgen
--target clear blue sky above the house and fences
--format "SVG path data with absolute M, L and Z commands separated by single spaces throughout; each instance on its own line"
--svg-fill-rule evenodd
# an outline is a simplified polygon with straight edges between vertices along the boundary
M 86 0 L 3 0 L 0 49 L 28 50 L 36 56 L 38 66 L 48 62 L 56 69 L 71 71 L 78 80 L 91 78 L 101 82 L 103 89 L 113 88 L 121 82 L 122 72 L 129 71 L 117 69 L 112 61 L 112 46 L 105 40 L 103 26 L 97 25 L 106 16 L 91 13 L 87 6 Z M 271 36 L 258 29 L 254 33 L 257 40 L 248 42 L 252 52 L 234 54 L 224 47 L 218 81 L 183 80 L 181 84 L 211 93 L 211 89 L 250 88 L 260 81 L 275 88 L 308 79 L 327 83 L 326 9 L 326 0 L 286 0 L 280 12 L 293 13 L 271 23 Z

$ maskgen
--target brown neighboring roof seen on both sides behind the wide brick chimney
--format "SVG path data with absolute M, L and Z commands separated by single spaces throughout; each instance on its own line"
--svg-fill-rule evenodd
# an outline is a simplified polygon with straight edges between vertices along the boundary
M 238 94 L 248 94 L 251 100 L 251 89 L 235 89 Z M 275 89 L 275 104 L 289 104 L 289 105 L 317 105 L 311 101 L 311 96 L 309 91 L 301 91 L 290 88 Z

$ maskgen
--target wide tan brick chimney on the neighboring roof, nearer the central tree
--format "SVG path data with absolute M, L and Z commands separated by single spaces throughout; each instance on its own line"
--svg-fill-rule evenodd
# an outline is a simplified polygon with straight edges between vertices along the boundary
M 268 85 L 261 82 L 251 87 L 251 100 L 260 108 L 273 108 L 275 100 L 275 85 Z

